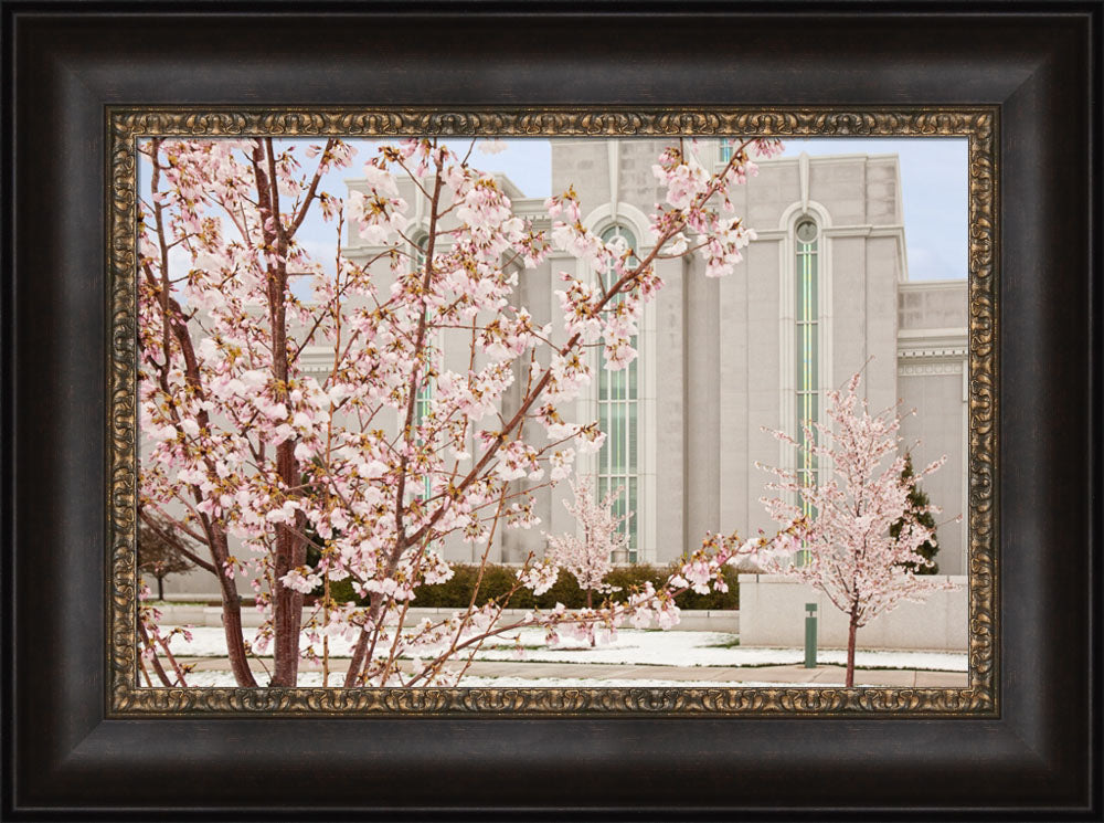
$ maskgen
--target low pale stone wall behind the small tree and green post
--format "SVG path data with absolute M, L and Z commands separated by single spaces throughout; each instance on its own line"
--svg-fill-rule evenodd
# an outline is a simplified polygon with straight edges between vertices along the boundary
M 859 629 L 860 648 L 965 652 L 969 647 L 967 578 L 923 603 L 904 602 Z M 805 604 L 817 604 L 817 644 L 847 647 L 847 615 L 822 592 L 776 574 L 740 576 L 740 645 L 804 646 Z

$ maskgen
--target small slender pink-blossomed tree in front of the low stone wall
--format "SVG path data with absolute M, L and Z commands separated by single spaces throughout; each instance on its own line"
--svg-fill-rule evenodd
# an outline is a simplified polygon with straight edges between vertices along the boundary
M 803 511 L 814 514 L 803 540 L 777 542 L 758 558 L 768 571 L 819 589 L 848 615 L 848 687 L 854 685 L 859 629 L 904 600 L 922 602 L 933 591 L 955 588 L 917 576 L 916 570 L 931 565 L 920 549 L 934 539 L 934 526 L 926 525 L 924 516 L 940 509 L 910 502 L 916 483 L 938 469 L 946 456 L 905 473 L 906 457 L 899 452 L 900 404 L 872 415 L 857 393 L 861 373 L 852 376 L 843 391 L 827 392 L 828 422 L 806 424 L 804 444 L 773 432 L 830 466 L 831 476 L 807 483 L 793 469 L 768 469 L 778 478 L 767 484 L 776 495 L 763 503 L 777 523 L 790 523 Z M 794 562 L 796 549 L 800 553 Z

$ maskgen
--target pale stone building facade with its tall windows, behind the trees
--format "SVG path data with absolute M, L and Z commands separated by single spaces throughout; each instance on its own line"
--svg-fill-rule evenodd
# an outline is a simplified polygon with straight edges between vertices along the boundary
M 651 171 L 664 145 L 553 140 L 552 190 L 573 186 L 583 223 L 606 239 L 623 236 L 643 256 L 650 251 L 647 214 L 664 198 Z M 715 168 L 726 160 L 718 141 L 700 149 Z M 769 475 L 756 464 L 792 466 L 810 479 L 826 467 L 795 466 L 793 450 L 765 430 L 797 435 L 800 421 L 822 420 L 826 390 L 864 368 L 872 410 L 898 401 L 903 411 L 915 410 L 902 426 L 914 463 L 947 455 L 922 487 L 943 508 L 940 571 L 965 573 L 966 279 L 910 282 L 895 155 L 802 155 L 758 165 L 756 177 L 732 189 L 735 213 L 757 233 L 735 273 L 707 278 L 700 258 L 658 261 L 666 285 L 645 309 L 637 359 L 608 372 L 595 354 L 595 379 L 575 403 L 575 422 L 598 420 L 607 439 L 578 469 L 596 475 L 599 494 L 624 489 L 618 513 L 633 561 L 670 562 L 709 531 L 771 531 L 760 503 Z M 543 199 L 500 182 L 516 212 L 539 226 L 548 221 Z M 363 181 L 348 184 L 355 190 Z M 421 198 L 406 199 L 423 208 Z M 416 232 L 425 215 L 413 218 Z M 379 251 L 354 232 L 348 244 L 346 253 L 358 262 Z M 555 253 L 535 270 L 519 271 L 518 300 L 534 324 L 562 326 L 554 292 L 564 270 L 602 276 Z M 437 342 L 450 368 L 448 340 Z M 457 354 L 465 363 L 454 366 L 466 370 L 466 347 Z M 325 372 L 327 355 L 317 356 Z M 573 531 L 563 506 L 570 495 L 565 483 L 538 490 L 541 525 L 497 531 L 491 559 L 520 562 L 543 551 L 545 532 Z M 443 548 L 454 561 L 482 551 L 458 539 Z

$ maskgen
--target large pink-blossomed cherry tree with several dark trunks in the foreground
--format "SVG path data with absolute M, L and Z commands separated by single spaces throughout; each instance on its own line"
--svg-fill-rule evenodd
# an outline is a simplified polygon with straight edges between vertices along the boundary
M 657 260 L 698 254 L 707 276 L 733 271 L 753 232 L 731 214 L 728 192 L 754 173 L 752 154 L 779 150 L 776 140 L 740 143 L 715 175 L 693 141 L 672 141 L 654 167 L 666 202 L 641 256 L 584 228 L 571 189 L 545 202 L 551 229 L 538 230 L 474 168 L 470 148 L 373 147 L 365 191 L 347 199 L 321 181 L 351 166 L 355 148 L 336 138 L 311 146 L 307 170 L 299 148 L 272 138 L 141 147 L 151 169 L 138 261 L 141 506 L 210 552 L 238 685 L 257 685 L 248 658 L 269 645 L 268 685 L 294 686 L 304 657 L 321 660 L 328 685 L 336 636 L 353 643 L 347 687 L 452 685 L 502 632 L 539 626 L 554 640 L 626 620 L 672 625 L 680 587 L 723 585 L 725 562 L 763 548 L 707 536 L 681 574 L 626 603 L 506 621 L 510 592 L 408 620 L 415 589 L 452 574 L 444 540 L 482 547 L 485 566 L 497 531 L 535 525 L 533 493 L 601 447 L 594 421 L 561 412 L 592 379 L 587 350 L 602 348 L 607 369 L 636 356 L 637 319 L 662 286 Z M 332 261 L 297 240 L 312 210 L 333 225 Z M 349 226 L 379 250 L 368 261 L 344 253 Z M 560 274 L 562 328 L 538 326 L 516 295 L 552 250 L 612 273 Z M 446 347 L 465 352 L 464 368 L 447 367 Z M 311 351 L 325 352 L 325 373 L 305 367 Z M 545 591 L 558 573 L 552 558 L 530 557 L 513 591 Z M 264 613 L 252 644 L 240 574 Z M 346 579 L 365 606 L 329 597 Z M 319 585 L 326 593 L 305 610 Z

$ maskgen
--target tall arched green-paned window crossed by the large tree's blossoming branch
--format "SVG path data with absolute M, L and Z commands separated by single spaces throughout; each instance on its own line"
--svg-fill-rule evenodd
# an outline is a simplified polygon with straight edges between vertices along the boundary
M 636 238 L 622 225 L 612 225 L 602 232 L 602 240 L 608 243 L 614 238 L 623 238 L 629 249 L 636 249 Z M 608 288 L 613 285 L 614 272 L 602 273 Z M 615 297 L 615 302 L 622 298 Z M 637 338 L 631 340 L 634 348 Z M 629 562 L 636 562 L 639 548 L 637 505 L 640 494 L 637 455 L 637 421 L 639 419 L 639 391 L 637 382 L 637 360 L 618 371 L 609 371 L 599 361 L 598 368 L 598 426 L 606 433 L 605 443 L 598 453 L 598 499 L 609 492 L 622 488 L 614 503 L 614 516 L 620 520 L 620 531 L 626 537 Z

